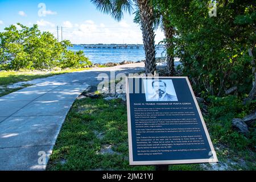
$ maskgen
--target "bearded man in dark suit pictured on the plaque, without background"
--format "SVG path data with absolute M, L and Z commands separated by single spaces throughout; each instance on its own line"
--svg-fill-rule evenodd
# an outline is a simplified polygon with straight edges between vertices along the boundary
M 152 88 L 155 94 L 150 97 L 150 101 L 177 101 L 177 97 L 166 92 L 166 82 L 162 80 L 152 81 Z

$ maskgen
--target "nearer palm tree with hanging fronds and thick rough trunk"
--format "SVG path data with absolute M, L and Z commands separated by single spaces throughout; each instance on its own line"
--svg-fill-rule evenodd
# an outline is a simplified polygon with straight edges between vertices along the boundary
M 131 14 L 133 6 L 139 8 L 143 44 L 146 54 L 145 72 L 154 76 L 156 71 L 156 51 L 153 26 L 154 15 L 151 0 L 91 0 L 91 2 L 96 5 L 98 10 L 112 15 L 118 21 L 123 18 L 124 11 Z

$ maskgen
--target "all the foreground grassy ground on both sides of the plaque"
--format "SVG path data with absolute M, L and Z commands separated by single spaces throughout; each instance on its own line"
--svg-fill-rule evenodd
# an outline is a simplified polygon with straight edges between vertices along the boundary
M 242 118 L 253 104 L 243 106 L 236 96 L 207 99 L 205 122 L 220 163 L 184 164 L 170 170 L 255 170 L 255 129 L 243 136 L 232 129 L 232 118 Z M 201 105 L 203 107 L 203 105 Z M 76 100 L 57 138 L 48 170 L 154 170 L 129 166 L 126 103 L 104 98 Z

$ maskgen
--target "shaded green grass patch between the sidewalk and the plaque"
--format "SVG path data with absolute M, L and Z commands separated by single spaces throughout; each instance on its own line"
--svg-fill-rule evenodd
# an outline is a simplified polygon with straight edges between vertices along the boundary
M 98 134 L 102 138 L 97 137 Z M 114 154 L 101 154 L 111 145 Z M 154 170 L 129 166 L 126 105 L 103 98 L 76 100 L 57 138 L 47 170 Z M 171 170 L 199 170 L 199 164 L 170 166 Z

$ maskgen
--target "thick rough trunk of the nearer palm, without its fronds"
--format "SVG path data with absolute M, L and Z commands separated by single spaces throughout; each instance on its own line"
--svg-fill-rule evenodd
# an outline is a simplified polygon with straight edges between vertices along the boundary
M 145 72 L 146 74 L 152 74 L 152 76 L 154 76 L 156 72 L 156 51 L 153 7 L 149 0 L 137 0 L 137 3 L 141 16 L 141 30 L 146 54 Z

